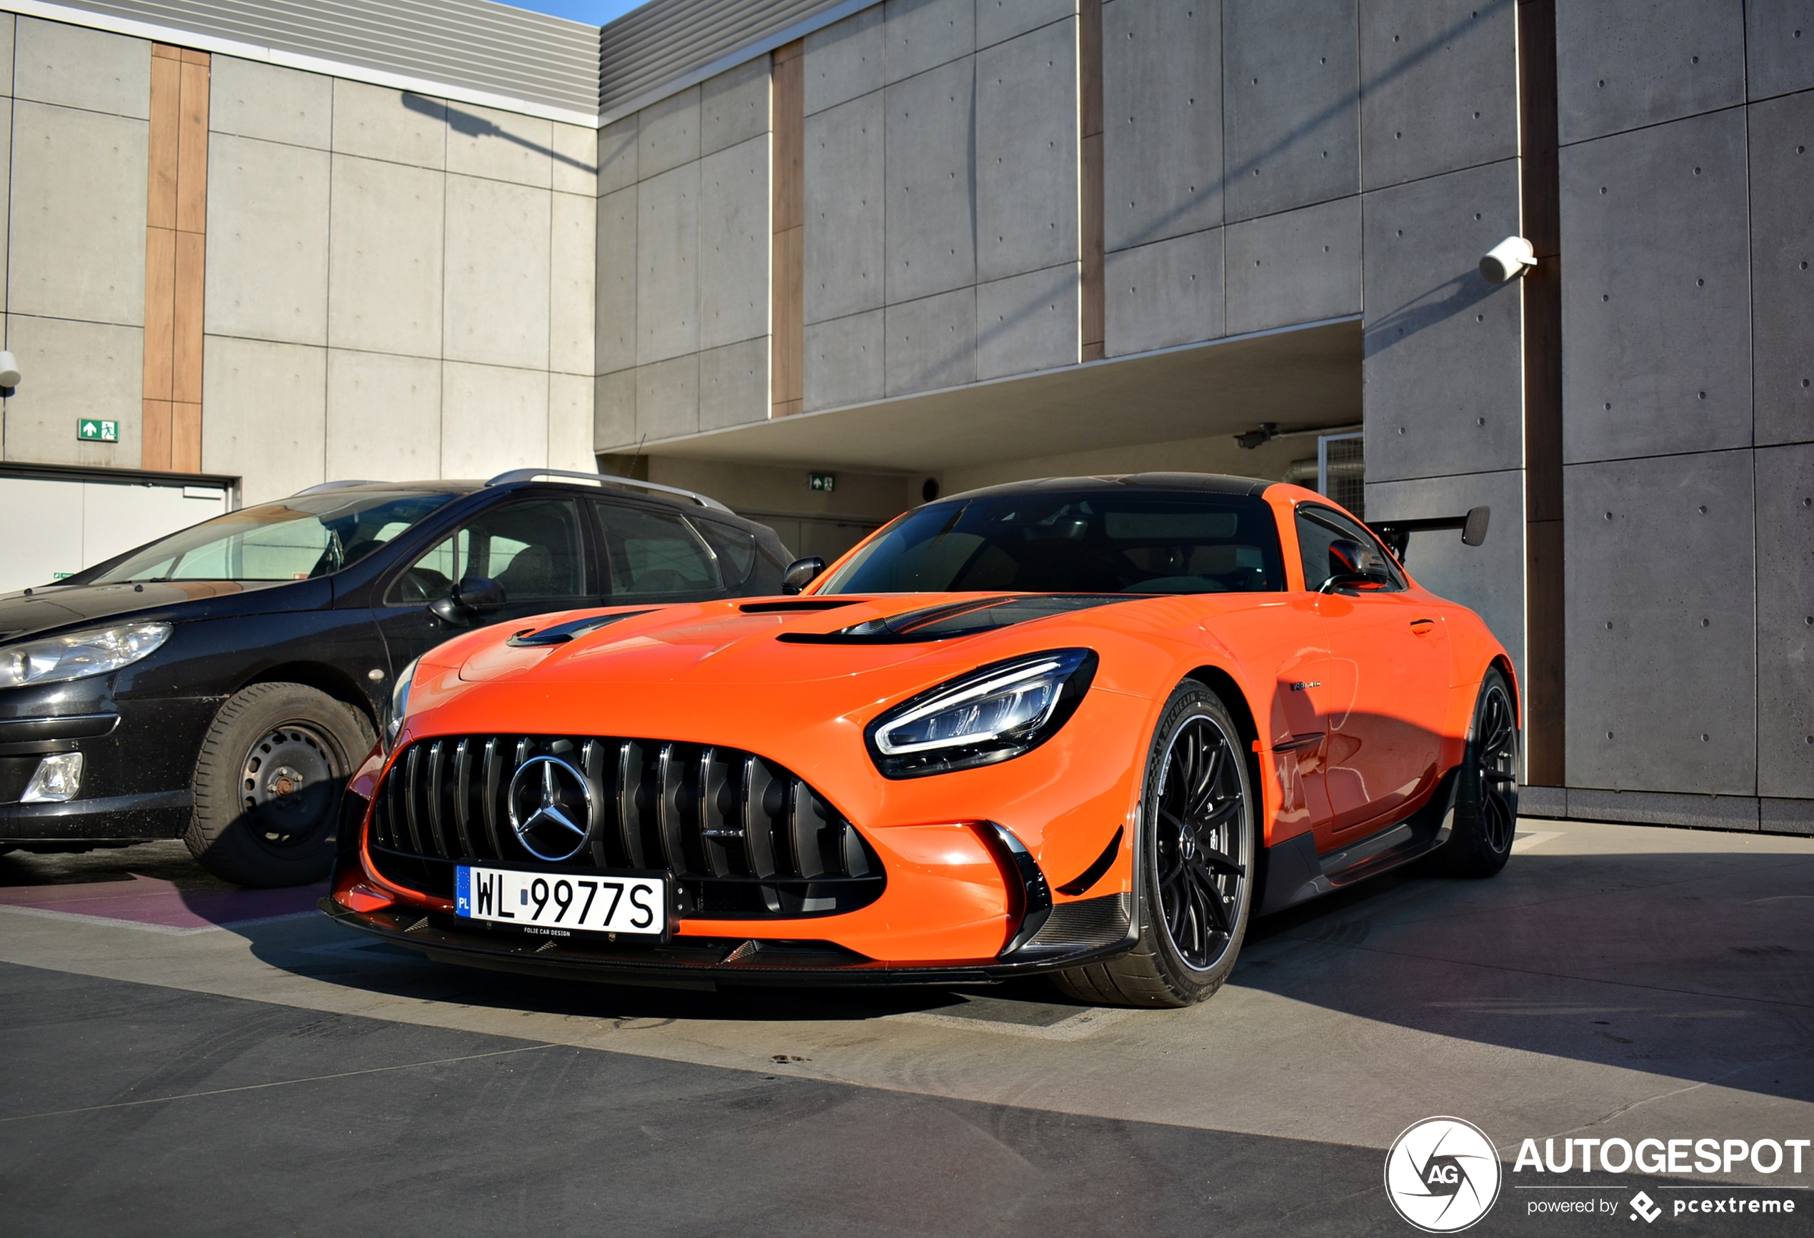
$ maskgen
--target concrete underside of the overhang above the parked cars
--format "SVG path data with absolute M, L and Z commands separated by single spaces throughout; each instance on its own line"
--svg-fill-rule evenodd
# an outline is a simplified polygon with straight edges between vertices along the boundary
M 1360 319 L 1257 332 L 644 444 L 644 453 L 940 471 L 1360 421 Z

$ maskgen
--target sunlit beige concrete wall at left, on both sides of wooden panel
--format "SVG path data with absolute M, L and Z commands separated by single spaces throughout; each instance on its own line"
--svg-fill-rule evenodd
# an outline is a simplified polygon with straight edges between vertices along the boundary
M 140 466 L 151 45 L 0 16 L 13 460 Z M 201 468 L 591 464 L 593 131 L 214 56 Z M 120 421 L 78 442 L 78 417 Z

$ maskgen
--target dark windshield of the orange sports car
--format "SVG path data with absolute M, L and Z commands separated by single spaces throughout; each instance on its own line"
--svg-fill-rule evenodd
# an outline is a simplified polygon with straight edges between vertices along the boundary
M 814 593 L 1284 589 L 1272 508 L 1246 495 L 1027 493 L 902 517 Z

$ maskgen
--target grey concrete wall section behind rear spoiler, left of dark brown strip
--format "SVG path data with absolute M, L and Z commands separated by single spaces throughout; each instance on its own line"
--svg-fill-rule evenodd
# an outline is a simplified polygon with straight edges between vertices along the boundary
M 1493 509 L 1486 546 L 1419 535 L 1408 567 L 1522 674 L 1522 285 L 1478 272 L 1524 232 L 1513 5 L 1362 4 L 1359 47 L 1366 515 Z

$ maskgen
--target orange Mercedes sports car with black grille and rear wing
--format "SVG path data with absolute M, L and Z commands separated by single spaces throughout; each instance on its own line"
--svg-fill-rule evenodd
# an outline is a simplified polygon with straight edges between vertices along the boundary
M 1498 872 L 1518 687 L 1415 529 L 1192 473 L 916 508 L 787 596 L 481 629 L 397 680 L 336 921 L 448 962 L 1181 1006 L 1252 915 Z

